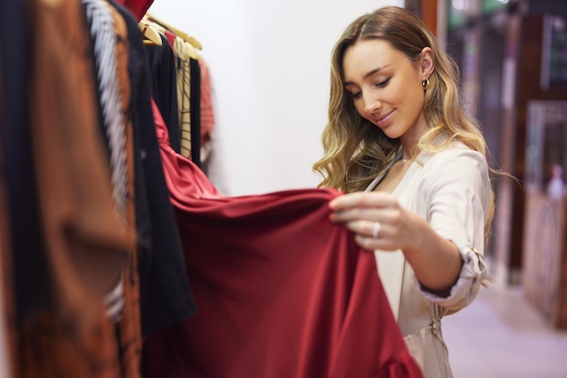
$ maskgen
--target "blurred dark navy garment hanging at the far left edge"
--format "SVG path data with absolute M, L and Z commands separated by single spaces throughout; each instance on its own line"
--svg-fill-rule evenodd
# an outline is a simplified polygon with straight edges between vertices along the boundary
M 47 260 L 41 235 L 41 217 L 37 198 L 28 87 L 32 70 L 33 24 L 28 11 L 19 1 L 0 2 L 0 153 L 5 177 L 9 222 L 7 232 L 13 264 L 14 314 L 19 323 L 50 303 L 52 292 L 48 281 Z M 9 94 L 9 95 L 8 95 Z M 9 162 L 9 164 L 7 164 Z M 6 241 L 4 241 L 6 242 Z M 35 264 L 29 264 L 35 261 Z

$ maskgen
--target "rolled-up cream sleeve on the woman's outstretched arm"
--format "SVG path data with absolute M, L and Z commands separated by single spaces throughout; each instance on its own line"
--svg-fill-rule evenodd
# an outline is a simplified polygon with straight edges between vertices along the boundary
M 492 192 L 485 157 L 470 150 L 455 149 L 450 159 L 432 161 L 422 199 L 428 203 L 428 222 L 439 235 L 452 241 L 463 265 L 448 297 L 422 289 L 431 302 L 455 312 L 466 307 L 487 278 L 485 224 L 491 212 Z

